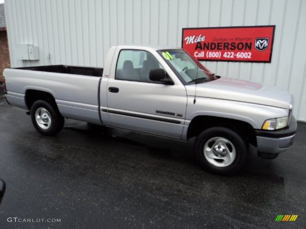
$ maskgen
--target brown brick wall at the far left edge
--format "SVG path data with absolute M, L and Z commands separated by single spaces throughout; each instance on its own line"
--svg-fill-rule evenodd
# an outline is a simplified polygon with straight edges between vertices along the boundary
M 7 42 L 6 31 L 0 31 L 0 81 L 2 82 L 3 70 L 11 67 L 9 61 L 9 44 Z

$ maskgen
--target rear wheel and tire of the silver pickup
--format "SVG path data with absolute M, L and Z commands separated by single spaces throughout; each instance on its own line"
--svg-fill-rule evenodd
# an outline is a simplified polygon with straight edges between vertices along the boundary
M 47 136 L 55 135 L 63 129 L 64 117 L 57 107 L 45 100 L 37 100 L 31 107 L 31 119 L 35 129 Z

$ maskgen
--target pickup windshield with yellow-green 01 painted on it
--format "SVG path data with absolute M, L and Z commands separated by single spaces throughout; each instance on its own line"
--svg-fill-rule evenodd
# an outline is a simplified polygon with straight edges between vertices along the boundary
M 159 55 L 169 64 L 172 69 L 180 75 L 186 83 L 194 82 L 196 79 L 203 79 L 209 82 L 218 79 L 198 60 L 182 49 L 169 49 L 158 51 Z

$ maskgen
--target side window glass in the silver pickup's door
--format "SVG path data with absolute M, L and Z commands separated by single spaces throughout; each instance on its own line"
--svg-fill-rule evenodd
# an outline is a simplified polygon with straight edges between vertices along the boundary
M 119 53 L 115 79 L 154 82 L 149 78 L 151 69 L 162 68 L 158 60 L 143 50 L 124 49 Z M 156 82 L 154 82 L 156 83 Z

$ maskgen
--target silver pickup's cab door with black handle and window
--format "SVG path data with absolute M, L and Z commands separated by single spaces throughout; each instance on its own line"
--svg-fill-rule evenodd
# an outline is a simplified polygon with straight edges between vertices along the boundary
M 148 51 L 119 52 L 115 77 L 107 84 L 110 122 L 121 128 L 181 138 L 187 104 L 185 86 L 151 81 L 149 72 L 156 68 L 163 68 L 162 64 Z

